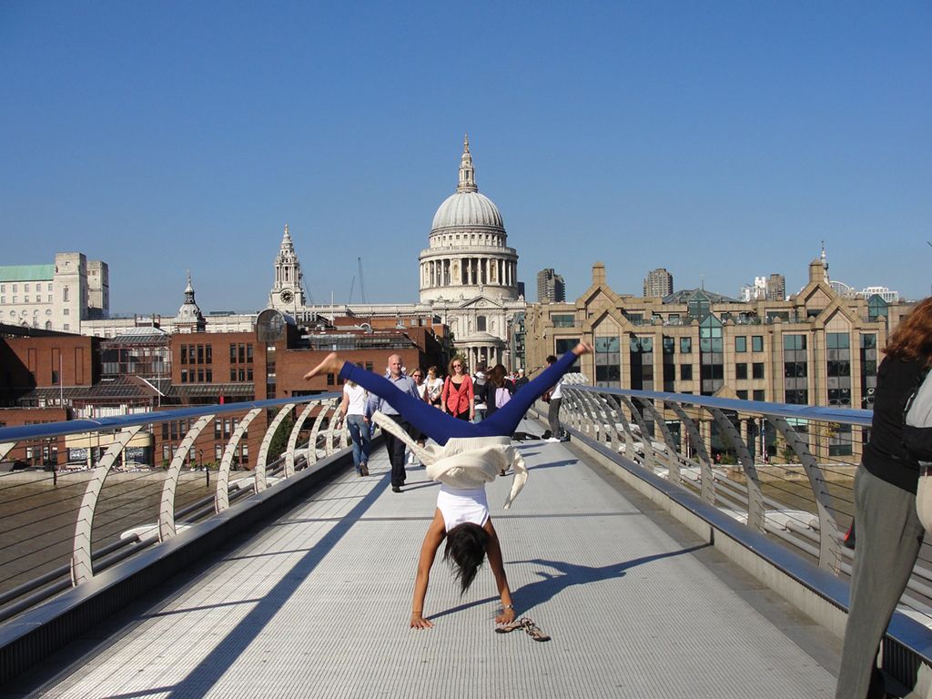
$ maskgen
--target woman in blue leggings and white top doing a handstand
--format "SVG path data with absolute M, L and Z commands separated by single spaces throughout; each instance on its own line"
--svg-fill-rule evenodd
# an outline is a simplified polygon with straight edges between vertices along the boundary
M 524 459 L 511 445 L 511 434 L 531 404 L 567 372 L 577 357 L 590 351 L 589 345 L 580 343 L 515 393 L 514 398 L 495 411 L 491 418 L 478 423 L 453 418 L 436 410 L 431 404 L 399 391 L 384 377 L 343 362 L 336 352 L 329 354 L 305 375 L 309 379 L 324 372 L 338 372 L 344 380 L 355 381 L 391 404 L 411 425 L 437 443 L 437 446 L 421 447 L 399 430 L 393 420 L 383 418 L 380 413 L 372 416 L 383 430 L 403 439 L 427 466 L 428 477 L 441 484 L 437 508 L 420 549 L 411 609 L 412 628 L 430 628 L 433 625 L 424 618 L 424 599 L 433 560 L 444 539 L 444 559 L 454 564 L 460 594 L 473 583 L 476 571 L 488 556 L 502 606 L 495 622 L 514 622 L 514 605 L 502 565 L 499 538 L 488 514 L 486 483 L 495 480 L 509 465 L 514 467 L 514 481 L 505 501 L 505 509 L 508 509 L 528 479 Z

